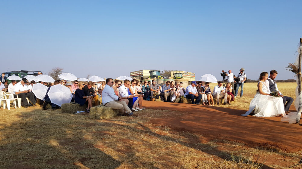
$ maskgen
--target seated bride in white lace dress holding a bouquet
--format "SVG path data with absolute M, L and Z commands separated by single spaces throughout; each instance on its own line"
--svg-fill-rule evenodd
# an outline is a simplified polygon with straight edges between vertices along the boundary
M 281 97 L 273 97 L 270 95 L 265 80 L 268 78 L 268 72 L 262 72 L 259 77 L 258 91 L 249 105 L 249 111 L 243 116 L 247 116 L 254 112 L 256 117 L 275 117 L 285 115 L 283 100 Z

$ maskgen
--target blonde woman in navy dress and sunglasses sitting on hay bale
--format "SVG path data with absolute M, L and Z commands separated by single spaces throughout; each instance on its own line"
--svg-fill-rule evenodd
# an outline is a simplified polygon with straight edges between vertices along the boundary
M 88 106 L 86 108 L 86 112 L 90 112 L 90 108 L 92 108 L 92 96 L 85 95 L 83 88 L 84 82 L 78 81 L 78 88 L 75 91 L 75 102 L 78 103 L 80 106 L 83 106 L 86 102 L 88 102 Z

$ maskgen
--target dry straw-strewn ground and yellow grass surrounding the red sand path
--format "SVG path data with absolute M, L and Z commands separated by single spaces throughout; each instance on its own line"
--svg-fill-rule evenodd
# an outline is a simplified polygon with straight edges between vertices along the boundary
M 214 85 L 211 84 L 212 90 Z M 294 97 L 295 86 L 295 83 L 278 83 L 280 91 L 291 97 Z M 246 83 L 244 88 L 244 97 L 232 105 L 206 107 L 217 107 L 212 113 L 231 112 L 228 116 L 241 118 L 233 112 L 248 109 L 257 87 L 256 83 Z M 189 113 L 178 111 L 177 106 L 174 110 L 150 109 L 156 102 L 143 103 L 149 109 L 138 112 L 138 117 L 118 116 L 107 120 L 91 119 L 86 113 L 66 114 L 40 107 L 11 110 L 1 107 L 0 168 L 288 168 L 302 159 L 301 149 L 288 151 L 278 146 L 282 143 L 252 146 L 240 137 L 237 140 L 214 139 L 209 134 L 156 124 L 155 119 L 185 118 Z M 186 109 L 190 112 L 190 107 Z M 198 109 L 209 108 L 199 106 Z M 198 118 L 198 115 L 193 117 Z M 211 116 L 208 119 L 213 120 Z M 282 124 L 282 130 L 285 127 L 302 129 L 297 124 L 275 119 L 247 119 L 262 121 L 263 126 L 265 120 L 269 120 L 275 125 L 276 133 L 279 124 Z M 222 128 L 223 134 L 223 128 L 228 126 L 222 125 L 224 119 L 220 120 L 214 121 L 217 127 L 212 128 Z M 300 139 L 300 135 L 297 136 Z M 286 137 L 294 139 L 295 134 Z M 292 168 L 301 168 L 301 165 Z

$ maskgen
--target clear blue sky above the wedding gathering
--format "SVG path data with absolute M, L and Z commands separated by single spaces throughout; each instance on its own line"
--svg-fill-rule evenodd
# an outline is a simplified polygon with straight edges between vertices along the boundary
M 302 1 L 0 1 L 1 72 L 53 67 L 78 78 L 140 69 L 249 79 L 295 60 Z

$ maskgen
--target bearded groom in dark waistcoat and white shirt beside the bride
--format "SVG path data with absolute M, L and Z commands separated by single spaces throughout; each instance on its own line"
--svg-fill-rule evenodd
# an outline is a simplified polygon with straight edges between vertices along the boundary
M 265 81 L 266 85 L 269 86 L 269 90 L 271 92 L 279 91 L 278 87 L 277 87 L 277 83 L 275 81 L 277 74 L 278 74 L 278 72 L 276 70 L 271 70 L 269 72 L 269 78 Z M 283 99 L 284 110 L 285 110 L 285 112 L 288 112 L 289 107 L 291 106 L 291 103 L 293 103 L 294 99 L 291 97 L 288 97 L 288 96 L 283 96 L 280 91 L 279 91 L 279 93 Z

